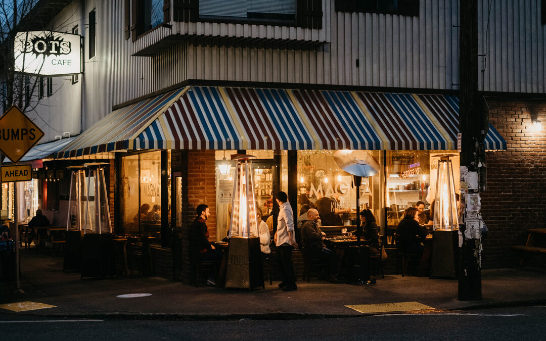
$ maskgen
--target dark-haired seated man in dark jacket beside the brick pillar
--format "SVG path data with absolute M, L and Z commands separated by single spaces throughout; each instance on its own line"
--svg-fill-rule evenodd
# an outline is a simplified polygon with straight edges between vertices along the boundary
M 209 242 L 209 229 L 206 226 L 206 220 L 210 216 L 209 206 L 201 204 L 195 211 L 197 211 L 197 217 L 189 225 L 188 231 L 190 255 L 197 261 L 215 261 L 218 268 L 222 261 L 222 252 L 218 252 Z M 209 278 L 207 284 L 214 285 L 214 277 Z

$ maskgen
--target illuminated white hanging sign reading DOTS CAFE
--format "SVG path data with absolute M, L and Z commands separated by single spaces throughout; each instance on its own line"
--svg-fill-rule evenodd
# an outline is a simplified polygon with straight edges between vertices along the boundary
M 41 76 L 81 73 L 81 37 L 52 31 L 15 35 L 15 72 Z

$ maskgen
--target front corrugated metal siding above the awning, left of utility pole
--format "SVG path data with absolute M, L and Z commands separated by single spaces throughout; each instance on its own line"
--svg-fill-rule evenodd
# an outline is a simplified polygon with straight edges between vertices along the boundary
M 425 0 L 419 17 L 341 13 L 329 18 L 323 51 L 222 49 L 188 46 L 188 78 L 225 79 L 211 59 L 227 60 L 229 80 L 453 89 L 458 82 L 458 4 Z M 198 33 L 186 25 L 185 33 Z M 288 32 L 287 32 L 288 34 Z M 288 37 L 288 36 L 284 36 Z M 235 53 L 233 53 L 235 52 Z M 253 57 L 256 56 L 256 57 Z M 256 59 L 257 58 L 257 59 Z M 359 59 L 359 67 L 356 66 Z M 264 69 L 262 73 L 256 70 Z M 210 70 L 210 71 L 207 71 Z M 236 70 L 236 72 L 235 72 Z

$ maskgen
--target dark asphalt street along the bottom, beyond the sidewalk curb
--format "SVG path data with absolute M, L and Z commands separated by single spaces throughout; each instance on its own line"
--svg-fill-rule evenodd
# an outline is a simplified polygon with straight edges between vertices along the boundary
M 2 340 L 538 340 L 546 335 L 546 306 L 300 320 L 2 319 Z

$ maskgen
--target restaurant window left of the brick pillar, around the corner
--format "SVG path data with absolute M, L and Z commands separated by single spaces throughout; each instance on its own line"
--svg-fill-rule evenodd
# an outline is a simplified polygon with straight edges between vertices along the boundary
M 161 242 L 163 215 L 170 214 L 169 207 L 161 205 L 161 157 L 162 151 L 154 151 L 121 158 L 120 208 L 124 234 L 155 237 L 155 242 Z

